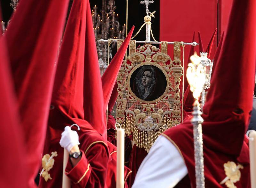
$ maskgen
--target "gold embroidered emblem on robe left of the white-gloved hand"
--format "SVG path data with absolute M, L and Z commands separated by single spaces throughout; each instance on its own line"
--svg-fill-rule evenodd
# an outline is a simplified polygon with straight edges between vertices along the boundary
M 52 179 L 51 175 L 48 172 L 49 172 L 49 170 L 52 169 L 52 167 L 54 165 L 53 157 L 58 156 L 57 151 L 54 151 L 51 154 L 52 154 L 51 156 L 49 154 L 45 154 L 42 158 L 42 167 L 43 167 L 43 169 L 40 173 L 40 176 L 42 176 L 46 182 L 49 179 Z

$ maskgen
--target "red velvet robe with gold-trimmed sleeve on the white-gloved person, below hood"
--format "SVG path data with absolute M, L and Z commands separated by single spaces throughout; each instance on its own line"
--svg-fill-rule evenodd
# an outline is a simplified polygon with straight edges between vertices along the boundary
M 56 109 L 50 111 L 50 117 L 51 115 L 56 117 L 56 119 L 50 118 L 48 122 L 49 128 L 43 155 L 51 155 L 52 151 L 57 151 L 58 156 L 53 158 L 55 162 L 53 168 L 49 170 L 52 180 L 49 179 L 46 182 L 43 177 L 40 177 L 39 187 L 58 188 L 62 186 L 64 150 L 60 147 L 59 141 L 64 127 L 66 125 L 70 126 L 73 123 L 78 124 L 81 129 L 77 131 L 77 133 L 79 135 L 79 148 L 82 151 L 82 158 L 75 167 L 72 168 L 70 160 L 66 166 L 65 173 L 71 179 L 72 188 L 105 187 L 109 157 L 108 145 L 105 139 L 103 139 L 85 120 L 75 118 L 68 119 L 68 116 L 66 116 L 66 118 L 60 118 L 64 114 Z M 61 127 L 63 127 L 63 129 Z M 73 127 L 72 129 L 74 130 L 76 128 Z

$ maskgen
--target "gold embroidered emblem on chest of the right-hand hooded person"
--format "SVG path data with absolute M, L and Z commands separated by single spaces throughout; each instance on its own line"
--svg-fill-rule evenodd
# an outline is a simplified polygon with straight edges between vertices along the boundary
M 228 161 L 227 163 L 224 163 L 224 170 L 227 177 L 225 177 L 220 184 L 224 184 L 228 188 L 236 188 L 236 185 L 234 183 L 238 182 L 241 178 L 241 172 L 239 169 L 244 169 L 243 165 Z

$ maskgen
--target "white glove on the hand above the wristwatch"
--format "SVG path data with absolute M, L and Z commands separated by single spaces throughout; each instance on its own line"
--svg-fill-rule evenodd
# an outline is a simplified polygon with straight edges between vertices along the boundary
M 79 145 L 78 134 L 76 131 L 72 131 L 69 126 L 65 127 L 63 133 L 61 133 L 60 146 L 65 148 L 70 152 L 70 150 L 75 146 Z

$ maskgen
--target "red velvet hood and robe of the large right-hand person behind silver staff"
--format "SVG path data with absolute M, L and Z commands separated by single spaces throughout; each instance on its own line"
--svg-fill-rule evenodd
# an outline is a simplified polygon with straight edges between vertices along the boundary
M 202 115 L 206 187 L 225 187 L 220 182 L 226 177 L 223 164 L 228 161 L 244 166 L 244 169 L 240 169 L 241 179 L 235 185 L 250 187 L 249 150 L 244 142 L 244 133 L 252 110 L 256 62 L 255 23 L 256 2 L 234 0 L 227 34 Z M 230 67 L 233 67 L 232 71 Z M 186 121 L 181 126 L 167 130 L 165 135 L 180 149 L 192 187 L 195 187 L 192 127 Z

